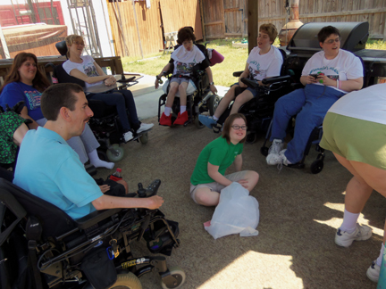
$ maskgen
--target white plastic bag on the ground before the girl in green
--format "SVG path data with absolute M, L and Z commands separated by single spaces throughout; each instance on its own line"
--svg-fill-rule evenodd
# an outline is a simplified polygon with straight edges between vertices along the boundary
M 258 235 L 259 216 L 256 198 L 249 195 L 245 187 L 233 182 L 222 189 L 210 226 L 205 228 L 214 239 L 231 234 Z

